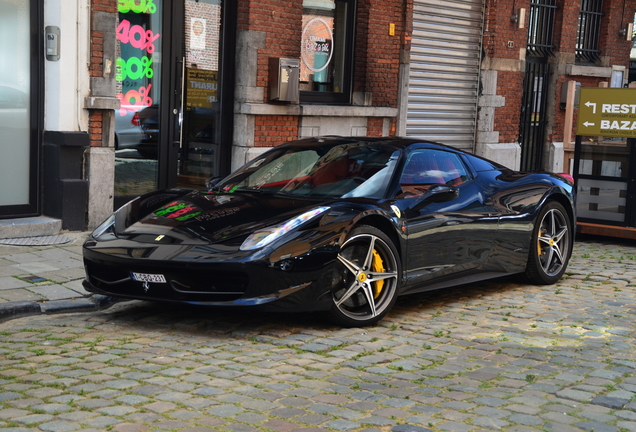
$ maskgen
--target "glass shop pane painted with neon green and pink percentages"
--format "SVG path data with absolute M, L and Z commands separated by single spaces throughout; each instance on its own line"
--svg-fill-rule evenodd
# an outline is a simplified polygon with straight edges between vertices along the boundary
M 115 195 L 158 187 L 163 0 L 118 2 Z

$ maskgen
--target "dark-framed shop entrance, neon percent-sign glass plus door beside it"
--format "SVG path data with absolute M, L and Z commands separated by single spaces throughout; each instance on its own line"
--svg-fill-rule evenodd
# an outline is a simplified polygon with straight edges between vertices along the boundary
M 227 174 L 232 3 L 118 2 L 115 207 L 155 189 L 204 188 Z

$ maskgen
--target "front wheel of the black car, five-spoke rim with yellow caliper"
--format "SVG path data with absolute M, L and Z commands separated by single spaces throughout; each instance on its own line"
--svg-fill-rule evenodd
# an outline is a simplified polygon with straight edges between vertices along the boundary
M 395 304 L 401 280 L 393 242 L 377 228 L 355 228 L 340 248 L 334 268 L 332 319 L 345 327 L 377 323 Z

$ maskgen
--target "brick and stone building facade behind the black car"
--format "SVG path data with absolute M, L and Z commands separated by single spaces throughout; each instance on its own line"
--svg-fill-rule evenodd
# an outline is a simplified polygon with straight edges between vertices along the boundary
M 628 84 L 635 8 L 0 0 L 0 20 L 19 19 L 10 31 L 33 47 L 30 56 L 0 47 L 20 64 L 16 74 L 0 62 L 0 85 L 29 101 L 21 128 L 9 129 L 0 107 L 0 128 L 18 134 L 28 167 L 19 170 L 24 193 L 0 201 L 0 237 L 23 236 L 23 222 L 30 235 L 38 224 L 90 229 L 131 197 L 203 187 L 311 136 L 420 137 L 512 168 L 561 171 L 576 132 L 565 130 L 563 88 Z

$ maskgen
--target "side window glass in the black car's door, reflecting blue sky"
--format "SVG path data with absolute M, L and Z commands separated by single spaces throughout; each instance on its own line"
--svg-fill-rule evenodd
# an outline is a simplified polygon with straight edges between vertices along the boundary
M 468 179 L 468 171 L 455 153 L 419 149 L 413 151 L 404 164 L 400 178 L 400 195 L 422 195 L 432 185 L 459 186 Z

